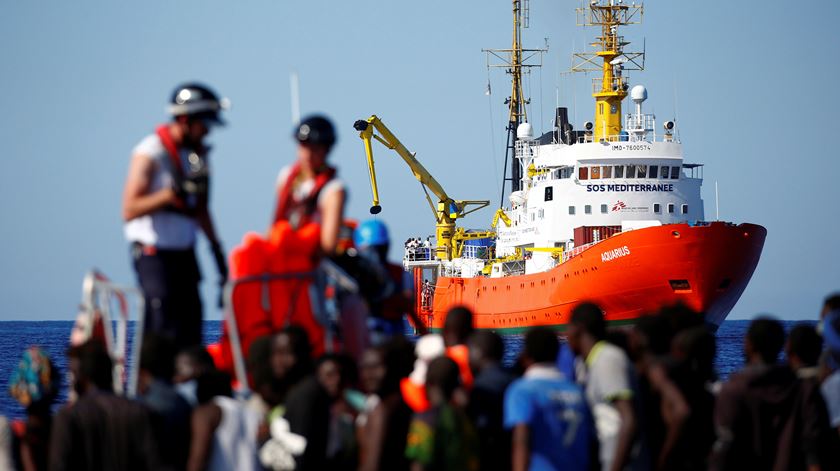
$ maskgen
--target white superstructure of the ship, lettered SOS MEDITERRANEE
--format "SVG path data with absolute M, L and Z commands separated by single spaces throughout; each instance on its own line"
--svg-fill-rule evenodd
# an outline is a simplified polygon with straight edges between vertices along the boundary
M 655 117 L 642 113 L 644 87 L 634 87 L 631 98 L 636 112 L 625 117 L 624 130 L 598 142 L 590 123 L 582 133 L 563 135 L 566 126 L 557 122 L 554 132 L 539 139 L 530 124 L 519 126 L 521 190 L 510 195 L 506 213 L 511 226 L 500 224 L 497 229 L 497 256 L 529 248 L 569 253 L 578 227 L 617 226 L 626 231 L 703 220 L 702 165 L 684 163 L 672 121 L 656 132 Z M 593 242 L 606 237 L 596 229 Z M 558 253 L 531 251 L 525 272 L 553 268 L 562 260 Z

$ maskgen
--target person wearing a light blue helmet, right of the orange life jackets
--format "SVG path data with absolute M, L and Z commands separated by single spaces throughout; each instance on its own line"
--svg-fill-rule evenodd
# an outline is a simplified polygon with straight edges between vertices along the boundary
M 353 243 L 364 262 L 360 264 L 361 270 L 368 279 L 377 280 L 362 283 L 363 292 L 365 288 L 375 287 L 375 292 L 365 293 L 370 307 L 368 328 L 372 343 L 379 345 L 394 335 L 402 335 L 405 315 L 421 335 L 425 334 L 425 325 L 414 311 L 414 292 L 405 270 L 402 265 L 388 262 L 391 246 L 388 227 L 378 219 L 364 221 L 353 233 Z

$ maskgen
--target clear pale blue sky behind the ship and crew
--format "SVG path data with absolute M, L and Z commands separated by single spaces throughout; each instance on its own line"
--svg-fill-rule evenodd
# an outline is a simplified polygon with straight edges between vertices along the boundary
M 228 97 L 212 136 L 212 208 L 226 247 L 263 231 L 274 181 L 294 157 L 289 75 L 304 114 L 338 126 L 332 159 L 350 189 L 347 215 L 368 217 L 370 189 L 353 121 L 379 115 L 458 199 L 499 198 L 508 78 L 482 48 L 510 47 L 511 3 L 179 0 L 0 3 L 0 320 L 70 320 L 92 267 L 134 283 L 120 198 L 132 147 L 167 119 L 175 85 Z M 550 50 L 526 81 L 529 116 L 547 131 L 556 101 L 577 129 L 592 119 L 592 76 L 569 76 L 571 52 L 596 31 L 577 1 L 532 0 L 525 45 Z M 809 319 L 840 290 L 840 152 L 836 134 L 840 3 L 645 2 L 623 30 L 647 49 L 646 110 L 676 117 L 686 160 L 705 164 L 703 196 L 720 216 L 768 230 L 752 282 L 730 319 Z M 493 94 L 484 94 L 488 80 Z M 625 109 L 629 107 L 625 104 Z M 402 241 L 433 232 L 423 193 L 396 154 L 376 150 L 383 212 Z M 465 219 L 489 226 L 492 210 Z M 206 246 L 206 317 L 218 319 Z

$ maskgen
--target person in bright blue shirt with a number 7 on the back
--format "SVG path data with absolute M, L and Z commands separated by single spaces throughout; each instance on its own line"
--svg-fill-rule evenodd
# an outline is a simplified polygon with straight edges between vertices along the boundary
M 514 471 L 587 470 L 597 466 L 597 439 L 583 390 L 557 369 L 554 332 L 525 334 L 522 378 L 505 393 L 505 427 L 512 429 Z

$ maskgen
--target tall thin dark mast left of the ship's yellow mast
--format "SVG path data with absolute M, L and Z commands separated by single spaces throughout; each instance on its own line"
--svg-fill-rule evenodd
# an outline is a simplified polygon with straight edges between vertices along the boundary
M 528 27 L 528 0 L 513 0 L 513 45 L 510 49 L 482 49 L 487 53 L 487 67 L 503 67 L 511 76 L 510 96 L 505 100 L 508 106 L 507 145 L 505 147 L 504 176 L 502 178 L 501 201 L 499 207 L 504 206 L 505 182 L 510 182 L 510 191 L 520 189 L 522 183 L 522 166 L 514 158 L 516 149 L 516 129 L 520 124 L 528 121 L 525 105 L 530 99 L 522 93 L 522 73 L 530 73 L 531 67 L 542 67 L 542 54 L 545 49 L 524 49 L 522 47 L 522 29 Z M 510 162 L 510 178 L 507 176 L 507 166 Z

